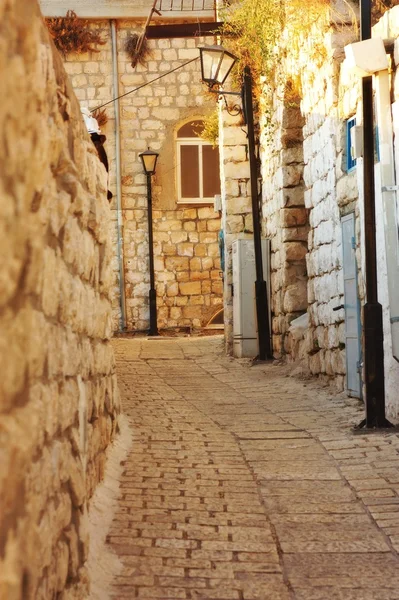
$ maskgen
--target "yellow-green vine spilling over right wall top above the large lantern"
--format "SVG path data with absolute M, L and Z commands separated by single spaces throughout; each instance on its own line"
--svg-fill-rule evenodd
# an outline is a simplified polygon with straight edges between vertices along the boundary
M 342 14 L 334 12 L 330 0 L 306 3 L 303 0 L 242 0 L 225 9 L 223 37 L 224 43 L 238 57 L 236 85 L 242 80 L 244 67 L 250 67 L 255 98 L 261 100 L 266 125 L 273 122 L 276 91 L 281 90 L 283 95 L 287 92 L 287 78 L 294 101 L 301 95 L 300 56 L 304 42 L 307 56 L 317 63 L 324 62 L 328 56 L 323 32 L 332 26 L 357 28 L 352 5 L 349 0 L 343 0 L 343 4 L 345 13 Z M 316 35 L 312 35 L 312 31 Z

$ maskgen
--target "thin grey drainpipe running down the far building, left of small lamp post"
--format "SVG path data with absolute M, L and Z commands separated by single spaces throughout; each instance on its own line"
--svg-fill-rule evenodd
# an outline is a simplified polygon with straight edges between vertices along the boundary
M 118 72 L 118 51 L 116 23 L 112 19 L 111 40 L 112 40 L 112 76 L 114 88 L 114 109 L 115 109 L 115 162 L 116 162 L 116 223 L 117 223 L 117 244 L 118 244 L 118 270 L 119 270 L 119 290 L 120 290 L 120 329 L 126 330 L 126 296 L 125 296 L 125 268 L 123 259 L 123 213 L 122 213 L 122 174 L 121 174 L 121 137 L 120 137 L 120 107 L 119 107 L 119 72 Z

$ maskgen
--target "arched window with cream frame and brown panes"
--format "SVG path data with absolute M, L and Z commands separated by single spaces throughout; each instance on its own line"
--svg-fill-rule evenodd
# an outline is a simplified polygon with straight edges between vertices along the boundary
M 199 137 L 203 121 L 186 123 L 177 132 L 177 201 L 210 204 L 220 194 L 219 148 Z

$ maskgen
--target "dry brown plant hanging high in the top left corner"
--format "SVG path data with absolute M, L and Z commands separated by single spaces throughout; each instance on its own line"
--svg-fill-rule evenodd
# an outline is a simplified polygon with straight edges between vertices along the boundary
M 99 52 L 95 45 L 105 44 L 100 33 L 90 27 L 89 21 L 79 19 L 73 10 L 68 10 L 65 17 L 45 19 L 45 22 L 56 48 L 64 56 L 71 52 Z

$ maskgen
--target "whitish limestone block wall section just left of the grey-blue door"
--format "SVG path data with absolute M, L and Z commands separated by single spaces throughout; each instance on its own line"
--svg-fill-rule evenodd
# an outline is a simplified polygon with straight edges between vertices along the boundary
M 302 106 L 306 119 L 305 206 L 310 209 L 311 227 L 307 256 L 309 366 L 313 374 L 334 376 L 337 387 L 343 388 L 346 368 L 340 324 L 344 315 L 343 311 L 333 311 L 341 304 L 343 295 L 341 223 L 336 201 L 337 68 L 328 61 L 316 71 L 311 95 L 306 93 L 309 77 L 310 69 L 303 77 Z M 325 92 L 326 86 L 329 94 Z

